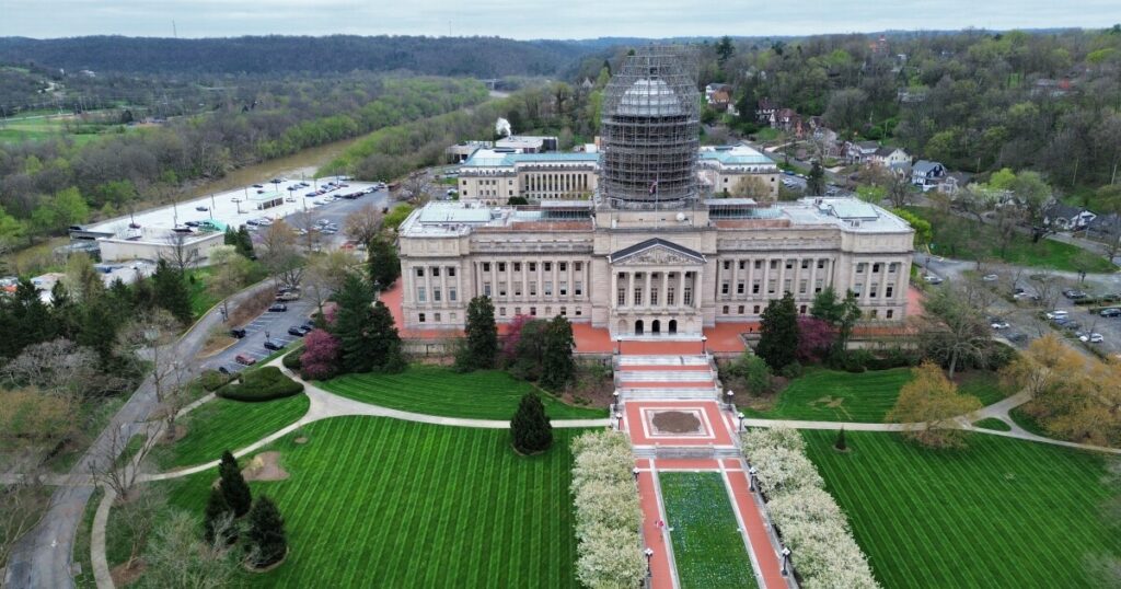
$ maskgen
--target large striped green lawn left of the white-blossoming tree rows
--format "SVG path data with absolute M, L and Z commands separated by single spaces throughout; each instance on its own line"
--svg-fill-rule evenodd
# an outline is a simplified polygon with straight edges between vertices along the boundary
M 522 458 L 503 430 L 336 417 L 287 436 L 276 499 L 291 553 L 259 587 L 576 587 L 571 438 Z M 247 459 L 242 459 L 242 463 Z M 174 484 L 202 514 L 216 472 Z

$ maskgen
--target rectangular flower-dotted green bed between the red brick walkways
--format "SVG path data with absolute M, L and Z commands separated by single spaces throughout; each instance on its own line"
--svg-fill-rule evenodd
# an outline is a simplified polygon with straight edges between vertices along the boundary
M 719 472 L 659 472 L 684 589 L 758 587 Z

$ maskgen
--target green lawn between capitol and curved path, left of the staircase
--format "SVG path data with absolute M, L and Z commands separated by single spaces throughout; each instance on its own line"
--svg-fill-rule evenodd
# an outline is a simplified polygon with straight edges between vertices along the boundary
M 509 420 L 521 396 L 537 390 L 499 370 L 458 374 L 423 365 L 410 366 L 399 375 L 345 375 L 318 385 L 337 395 L 383 407 L 479 420 Z M 606 416 L 606 409 L 566 405 L 546 393 L 540 396 L 550 418 Z

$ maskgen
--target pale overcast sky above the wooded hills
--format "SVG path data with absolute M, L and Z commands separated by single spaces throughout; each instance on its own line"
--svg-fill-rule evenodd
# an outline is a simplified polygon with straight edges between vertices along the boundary
M 1121 0 L 0 0 L 0 36 L 516 39 L 1009 29 L 1121 22 Z

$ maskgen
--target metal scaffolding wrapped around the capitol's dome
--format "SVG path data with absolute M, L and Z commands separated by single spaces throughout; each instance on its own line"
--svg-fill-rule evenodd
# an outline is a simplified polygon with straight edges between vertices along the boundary
M 696 59 L 683 47 L 628 56 L 608 83 L 600 193 L 618 209 L 696 204 L 701 95 Z

